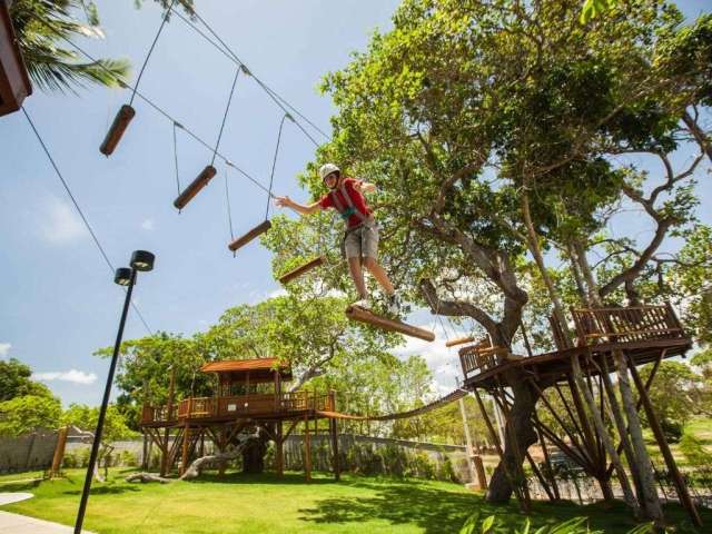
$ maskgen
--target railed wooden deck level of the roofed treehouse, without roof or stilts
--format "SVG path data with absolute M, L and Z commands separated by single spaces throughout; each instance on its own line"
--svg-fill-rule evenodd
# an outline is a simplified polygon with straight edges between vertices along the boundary
M 336 393 L 295 392 L 190 397 L 174 406 L 144 406 L 141 426 L 210 424 L 246 418 L 291 419 L 336 409 Z

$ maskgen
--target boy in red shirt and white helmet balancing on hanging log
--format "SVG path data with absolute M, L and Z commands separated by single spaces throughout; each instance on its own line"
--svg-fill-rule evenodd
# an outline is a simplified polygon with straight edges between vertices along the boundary
M 358 300 L 354 303 L 354 306 L 368 308 L 368 291 L 363 273 L 363 267 L 366 267 L 388 296 L 387 312 L 398 315 L 400 313 L 399 298 L 388 275 L 377 259 L 378 225 L 364 198 L 364 194 L 376 190 L 376 186 L 342 176 L 342 170 L 334 164 L 323 165 L 319 169 L 319 176 L 329 188 L 329 192 L 322 199 L 310 205 L 304 205 L 295 202 L 289 197 L 277 197 L 277 206 L 291 208 L 303 215 L 314 214 L 320 209 L 336 209 L 342 219 L 346 221 L 342 249 L 348 260 L 348 268 L 358 293 Z

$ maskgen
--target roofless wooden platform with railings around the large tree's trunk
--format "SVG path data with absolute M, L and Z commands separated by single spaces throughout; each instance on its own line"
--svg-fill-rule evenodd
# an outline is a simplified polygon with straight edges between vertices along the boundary
M 558 350 L 522 357 L 512 355 L 506 347 L 463 347 L 459 360 L 465 387 L 490 389 L 506 385 L 503 375 L 517 367 L 536 378 L 565 382 L 573 356 L 580 357 L 584 372 L 597 375 L 605 368 L 602 358 L 613 368 L 615 350 L 622 350 L 639 366 L 684 355 L 692 347 L 692 339 L 670 306 L 572 309 L 572 316 L 576 338 L 566 342 L 560 333 L 555 336 Z

